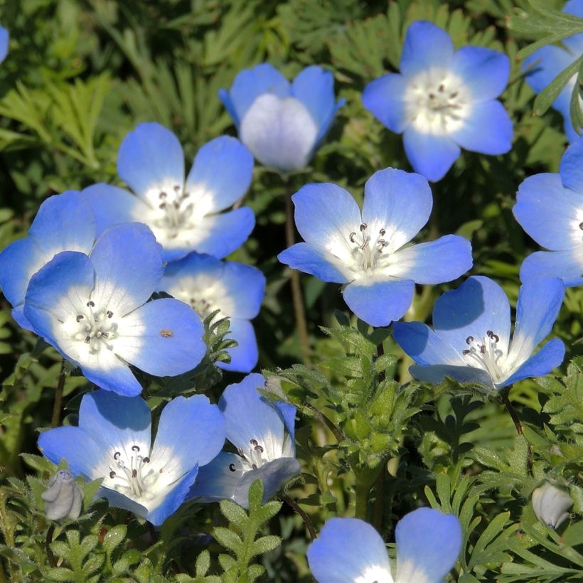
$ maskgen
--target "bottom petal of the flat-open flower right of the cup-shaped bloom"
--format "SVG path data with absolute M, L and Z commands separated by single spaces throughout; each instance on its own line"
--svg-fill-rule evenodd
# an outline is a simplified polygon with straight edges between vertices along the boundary
M 412 126 L 405 129 L 403 145 L 414 171 L 432 182 L 441 180 L 461 154 L 448 135 L 422 134 Z

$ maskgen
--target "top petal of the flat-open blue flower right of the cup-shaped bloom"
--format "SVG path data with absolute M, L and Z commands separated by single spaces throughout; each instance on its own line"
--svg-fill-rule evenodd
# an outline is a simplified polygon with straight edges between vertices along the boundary
M 442 28 L 428 21 L 415 21 L 405 34 L 400 70 L 414 75 L 424 69 L 448 69 L 454 57 L 454 43 Z

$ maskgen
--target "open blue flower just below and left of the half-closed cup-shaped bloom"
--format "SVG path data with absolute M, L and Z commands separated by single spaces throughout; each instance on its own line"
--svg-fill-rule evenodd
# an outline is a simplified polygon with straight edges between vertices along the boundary
M 228 136 L 205 144 L 184 181 L 184 153 L 176 136 L 160 124 L 139 124 L 119 146 L 117 171 L 137 196 L 107 184 L 83 191 L 95 210 L 98 232 L 138 221 L 164 247 L 164 261 L 191 251 L 219 259 L 240 247 L 255 225 L 252 210 L 219 214 L 251 183 L 253 158 Z

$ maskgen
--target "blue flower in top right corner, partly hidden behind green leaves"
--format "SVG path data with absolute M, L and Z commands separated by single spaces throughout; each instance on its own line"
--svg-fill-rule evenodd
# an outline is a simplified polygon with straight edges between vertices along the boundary
M 570 0 L 565 4 L 563 11 L 567 14 L 583 18 L 583 1 Z M 525 58 L 523 63 L 523 71 L 526 72 L 525 79 L 534 92 L 540 93 L 562 70 L 565 70 L 574 60 L 582 55 L 583 33 L 562 38 L 561 45 L 543 46 Z M 557 112 L 562 114 L 565 135 L 569 141 L 575 141 L 579 136 L 571 123 L 570 113 L 571 96 L 575 82 L 577 82 L 577 73 L 574 73 L 552 104 L 553 109 L 557 109 Z M 581 104 L 580 97 L 579 104 Z

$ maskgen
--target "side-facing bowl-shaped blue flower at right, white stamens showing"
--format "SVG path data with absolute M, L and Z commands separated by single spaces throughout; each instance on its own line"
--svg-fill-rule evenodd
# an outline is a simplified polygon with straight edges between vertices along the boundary
M 533 352 L 559 314 L 565 288 L 560 279 L 538 279 L 520 288 L 510 341 L 510 305 L 502 288 L 474 276 L 447 291 L 433 310 L 434 331 L 424 323 L 395 323 L 393 337 L 417 363 L 410 373 L 439 383 L 446 375 L 461 383 L 501 389 L 550 373 L 565 356 L 558 338 Z

